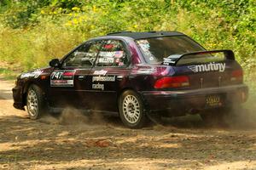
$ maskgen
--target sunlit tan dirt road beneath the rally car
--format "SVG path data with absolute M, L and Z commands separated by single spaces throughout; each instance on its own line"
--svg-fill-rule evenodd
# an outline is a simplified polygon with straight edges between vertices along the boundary
M 0 80 L 0 169 L 256 169 L 251 108 L 230 127 L 187 116 L 131 130 L 72 110 L 32 121 L 12 107 L 12 86 Z

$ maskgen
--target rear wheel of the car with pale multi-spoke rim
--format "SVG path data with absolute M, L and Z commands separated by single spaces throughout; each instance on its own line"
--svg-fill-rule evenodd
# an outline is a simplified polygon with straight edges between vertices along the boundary
M 119 116 L 127 127 L 141 128 L 146 125 L 148 117 L 139 94 L 126 90 L 119 96 Z

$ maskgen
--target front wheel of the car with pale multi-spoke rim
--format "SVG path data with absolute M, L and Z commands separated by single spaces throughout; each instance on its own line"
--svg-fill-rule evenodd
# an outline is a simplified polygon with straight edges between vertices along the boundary
M 32 120 L 40 118 L 47 111 L 43 91 L 37 85 L 32 84 L 27 90 L 26 111 Z

